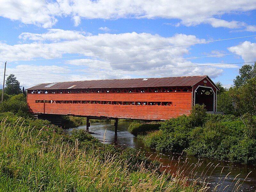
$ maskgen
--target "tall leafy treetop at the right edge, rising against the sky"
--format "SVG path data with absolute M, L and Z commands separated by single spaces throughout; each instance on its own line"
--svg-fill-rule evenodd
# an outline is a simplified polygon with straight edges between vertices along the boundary
M 248 80 L 256 77 L 256 62 L 254 65 L 244 65 L 239 69 L 240 76 L 236 76 L 234 79 L 234 85 L 236 87 L 241 87 L 242 85 L 246 84 Z

